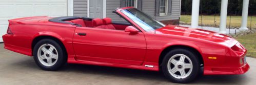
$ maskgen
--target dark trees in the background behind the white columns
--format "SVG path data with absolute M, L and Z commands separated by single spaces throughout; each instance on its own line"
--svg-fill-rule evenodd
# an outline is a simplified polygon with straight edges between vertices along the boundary
M 181 13 L 191 14 L 192 0 L 182 0 Z M 214 13 L 220 13 L 221 0 L 200 0 L 200 13 L 212 15 Z M 228 2 L 228 14 L 241 15 L 243 9 L 243 0 L 229 0 Z M 249 3 L 249 15 L 256 15 L 256 0 L 250 0 Z

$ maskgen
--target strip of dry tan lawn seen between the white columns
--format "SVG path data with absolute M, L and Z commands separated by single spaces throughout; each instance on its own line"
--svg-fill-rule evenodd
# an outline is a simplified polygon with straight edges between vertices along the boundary
M 230 27 L 241 27 L 241 16 L 231 16 Z M 250 28 L 251 17 L 248 16 L 247 27 Z M 181 22 L 191 24 L 191 15 L 181 15 Z M 220 16 L 215 17 L 216 25 L 220 25 Z M 201 15 L 199 16 L 199 24 L 201 25 Z M 214 15 L 203 15 L 203 25 L 214 26 Z M 229 16 L 227 16 L 227 27 L 229 26 Z M 252 16 L 252 28 L 256 28 L 256 16 Z

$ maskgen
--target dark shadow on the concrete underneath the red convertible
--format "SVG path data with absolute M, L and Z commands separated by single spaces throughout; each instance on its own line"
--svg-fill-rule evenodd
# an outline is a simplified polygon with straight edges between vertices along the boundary
M 42 71 L 38 68 L 33 61 L 33 58 L 13 62 L 12 66 L 21 67 L 24 69 Z M 103 66 L 91 66 L 91 65 L 78 65 L 78 64 L 66 64 L 63 68 L 58 70 L 63 74 L 74 73 L 74 74 L 92 74 L 92 75 L 104 75 L 114 76 L 120 78 L 131 78 L 131 79 L 143 79 L 143 80 L 154 80 L 159 82 L 171 83 L 162 72 L 155 71 L 144 71 L 134 70 L 125 68 L 113 68 Z M 243 84 L 246 82 L 246 75 L 200 75 L 190 84 Z

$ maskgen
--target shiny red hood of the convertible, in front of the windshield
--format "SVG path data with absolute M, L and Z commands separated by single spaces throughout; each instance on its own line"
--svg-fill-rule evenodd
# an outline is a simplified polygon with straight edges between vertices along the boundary
M 227 36 L 225 34 L 220 34 L 220 33 L 208 31 L 208 30 L 192 29 L 192 28 L 173 26 L 173 25 L 168 25 L 163 28 L 157 29 L 156 33 L 198 38 L 202 40 L 216 42 L 218 44 L 225 45 L 227 47 L 232 47 L 238 42 L 234 38 Z

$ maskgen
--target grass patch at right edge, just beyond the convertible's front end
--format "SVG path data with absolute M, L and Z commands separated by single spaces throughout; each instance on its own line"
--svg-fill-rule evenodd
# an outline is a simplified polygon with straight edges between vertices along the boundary
M 246 56 L 256 58 L 256 33 L 235 37 L 246 49 Z

